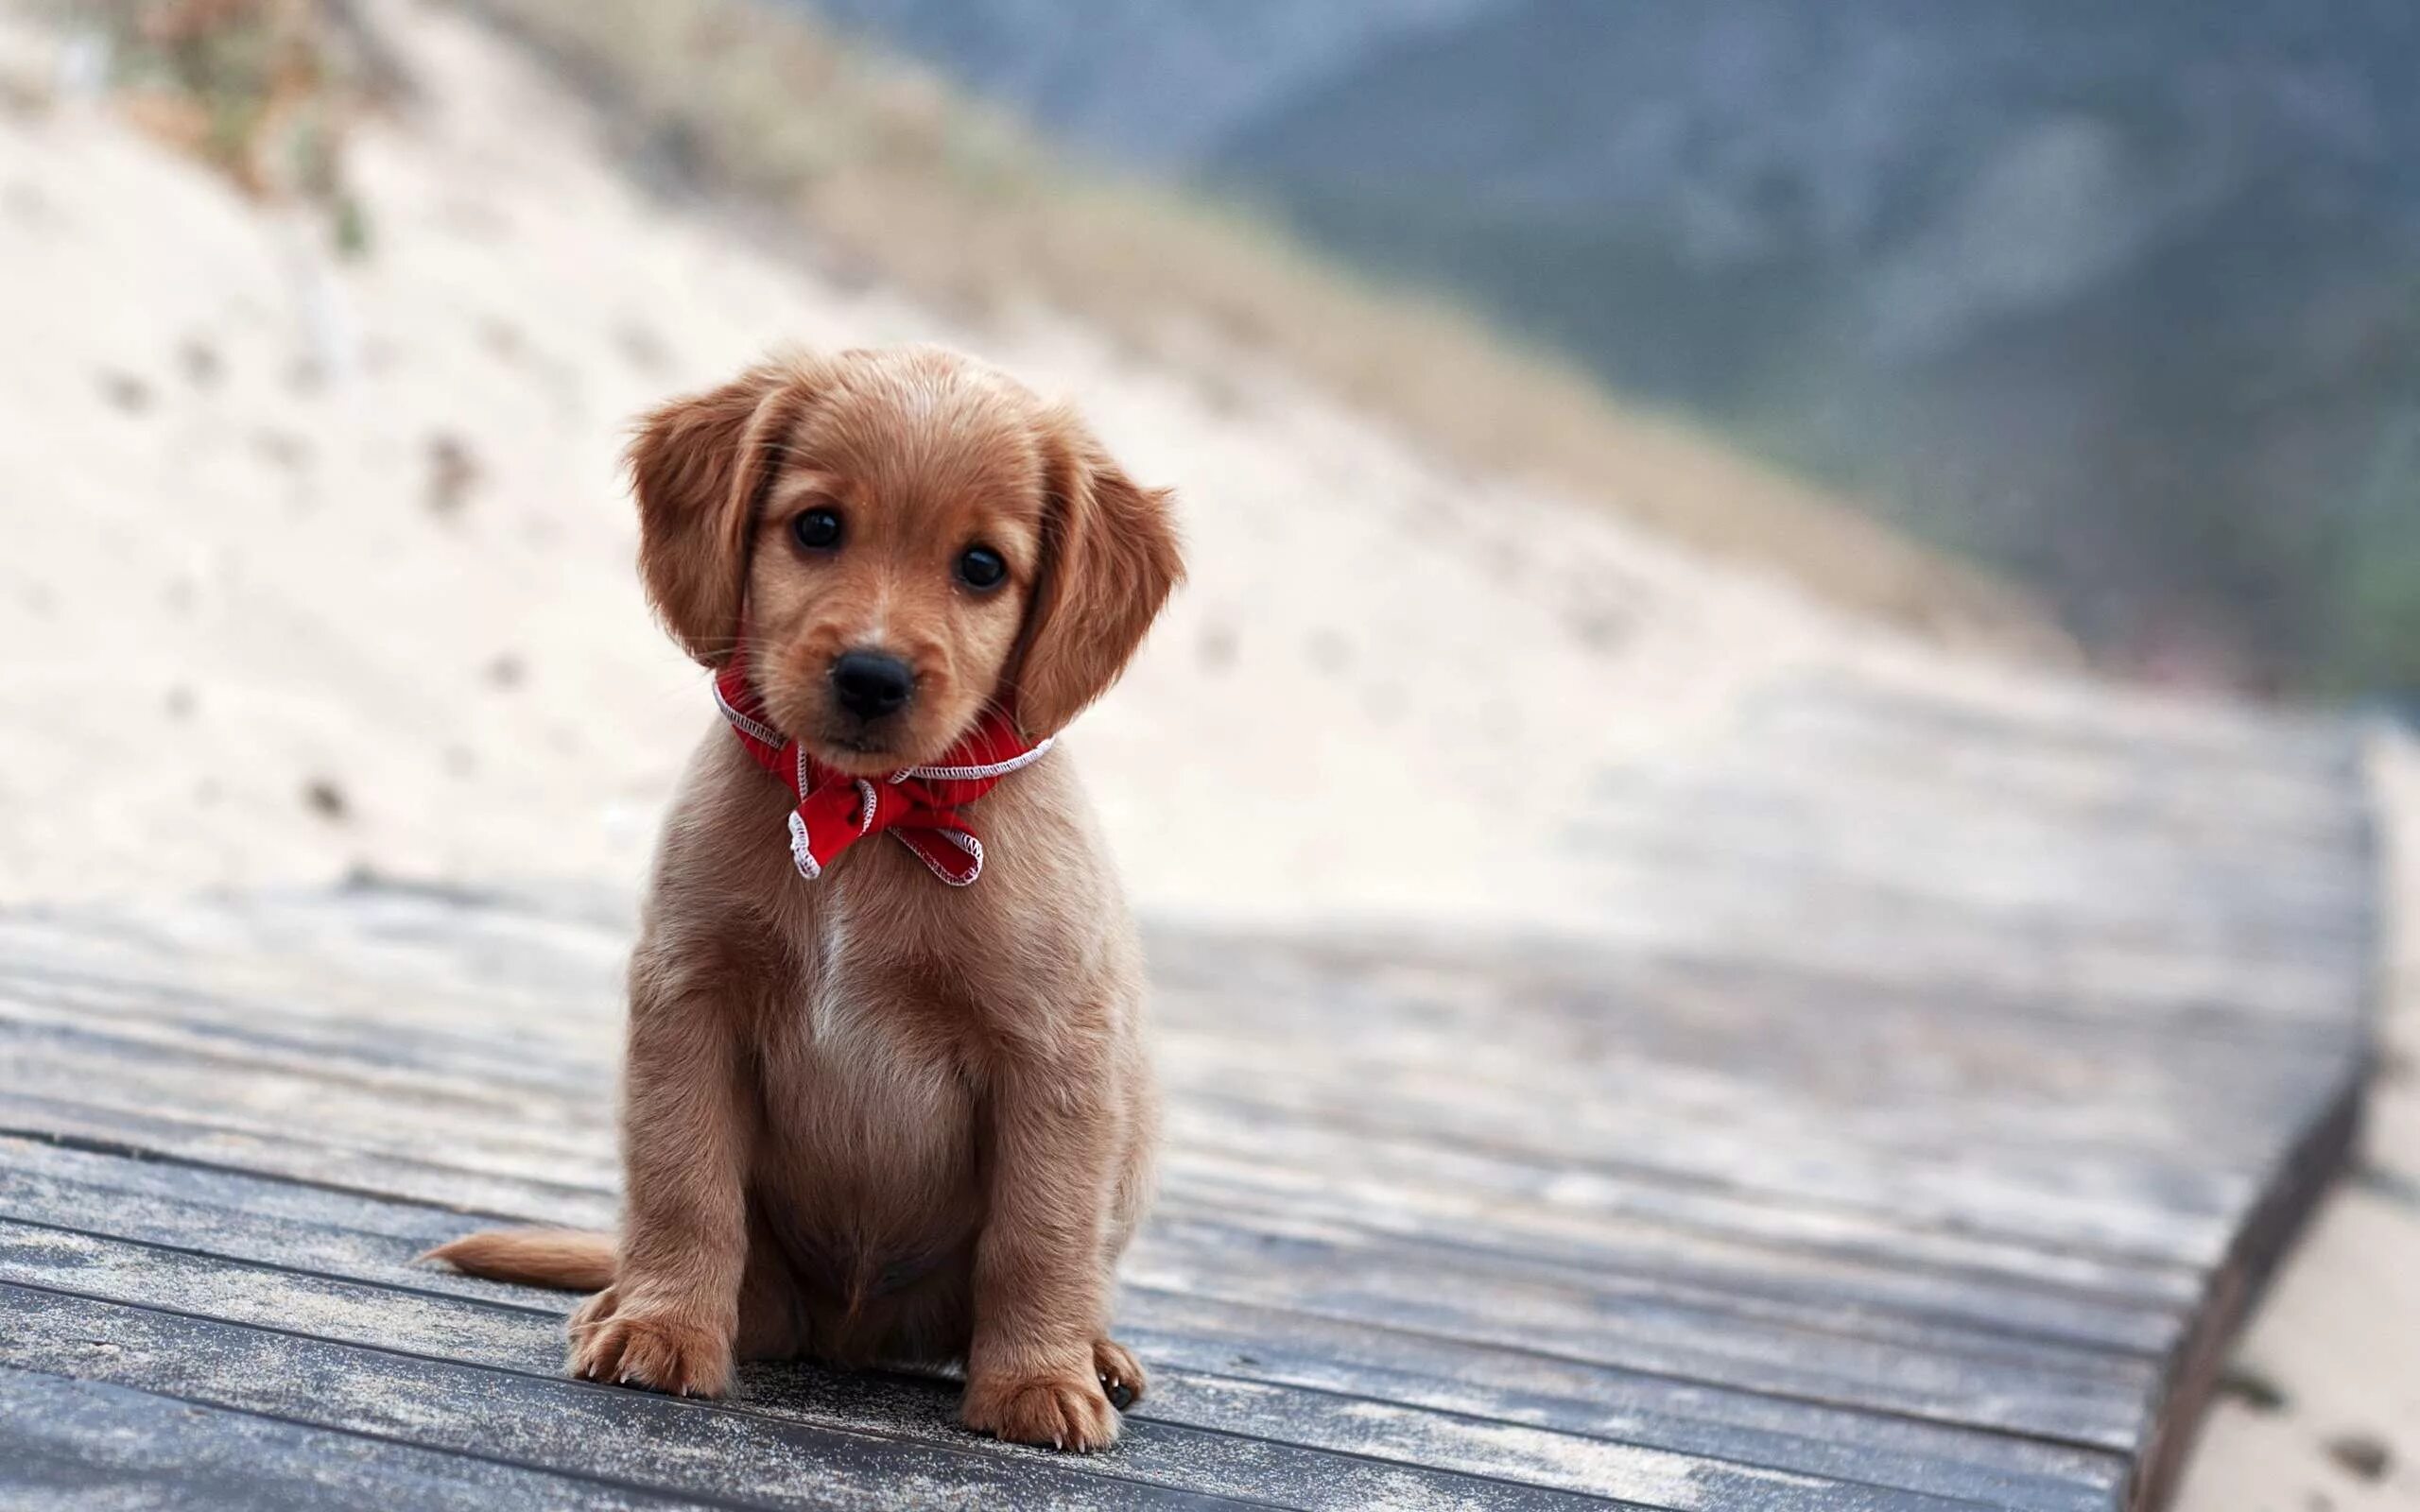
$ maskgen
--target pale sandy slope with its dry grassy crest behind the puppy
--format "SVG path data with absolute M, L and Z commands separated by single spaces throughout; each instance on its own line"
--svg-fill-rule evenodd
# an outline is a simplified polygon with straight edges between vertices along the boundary
M 0 2 L 0 898 L 629 890 L 726 735 L 649 622 L 620 452 L 784 344 L 983 353 L 1176 486 L 1188 588 L 1072 735 L 1159 914 L 1592 927 L 1566 830 L 1617 760 L 1781 677 L 2035 634 L 1684 428 L 765 17 Z M 1474 462 L 1498 419 L 1597 494 Z

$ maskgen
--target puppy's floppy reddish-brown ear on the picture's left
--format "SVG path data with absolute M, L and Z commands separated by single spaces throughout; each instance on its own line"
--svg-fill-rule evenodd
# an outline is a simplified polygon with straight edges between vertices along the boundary
M 748 588 L 748 532 L 806 404 L 799 365 L 765 363 L 673 399 L 629 443 L 639 496 L 639 578 L 695 660 L 731 660 Z

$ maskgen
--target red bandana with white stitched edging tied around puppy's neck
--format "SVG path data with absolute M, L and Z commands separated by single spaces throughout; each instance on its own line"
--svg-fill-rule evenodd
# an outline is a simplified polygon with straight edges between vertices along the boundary
M 937 878 L 963 888 L 983 876 L 983 842 L 958 810 L 1050 750 L 1050 740 L 1026 745 L 1009 716 L 995 709 L 932 767 L 905 767 L 881 781 L 849 777 L 772 728 L 765 702 L 748 685 L 745 648 L 716 673 L 714 702 L 755 764 L 799 793 L 789 813 L 789 854 L 808 881 L 866 835 L 891 830 Z

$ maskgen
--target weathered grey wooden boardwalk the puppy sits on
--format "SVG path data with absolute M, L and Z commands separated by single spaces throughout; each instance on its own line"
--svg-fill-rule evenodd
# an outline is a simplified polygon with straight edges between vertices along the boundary
M 2151 1505 L 2350 1139 L 2347 731 L 1805 682 L 1571 818 L 1604 939 L 1159 931 L 1154 1391 L 559 1379 L 620 910 L 0 917 L 0 1505 Z M 1578 852 L 1575 852 L 1578 854 Z

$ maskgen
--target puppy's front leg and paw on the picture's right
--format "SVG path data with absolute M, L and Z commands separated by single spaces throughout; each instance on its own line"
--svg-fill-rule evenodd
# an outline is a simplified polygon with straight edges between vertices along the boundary
M 1133 1362 L 1096 1352 L 1108 1338 L 1118 1110 L 1089 1081 L 1065 1067 L 995 1079 L 992 1202 L 975 1243 L 961 1408 L 978 1432 L 1079 1452 L 1118 1442 L 1101 1364 Z

